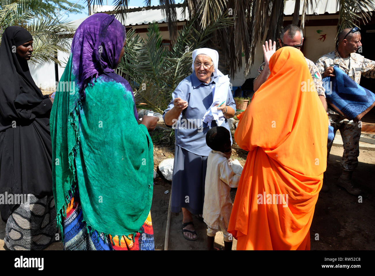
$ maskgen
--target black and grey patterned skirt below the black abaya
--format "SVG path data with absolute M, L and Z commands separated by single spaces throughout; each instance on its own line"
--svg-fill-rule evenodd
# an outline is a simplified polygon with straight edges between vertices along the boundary
M 27 195 L 6 221 L 4 242 L 10 250 L 43 250 L 58 241 L 53 196 Z

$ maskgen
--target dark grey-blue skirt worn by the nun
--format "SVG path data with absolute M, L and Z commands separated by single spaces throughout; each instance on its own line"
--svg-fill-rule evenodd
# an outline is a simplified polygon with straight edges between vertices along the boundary
M 203 213 L 207 157 L 193 154 L 176 145 L 171 192 L 173 213 L 180 212 L 181 207 L 192 214 Z

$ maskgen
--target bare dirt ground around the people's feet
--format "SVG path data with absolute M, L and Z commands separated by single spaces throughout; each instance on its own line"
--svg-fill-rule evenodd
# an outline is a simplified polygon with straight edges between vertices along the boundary
M 157 133 L 155 135 L 158 135 Z M 154 143 L 154 168 L 166 158 L 174 157 L 174 146 L 163 144 L 158 139 Z M 375 248 L 375 151 L 360 149 L 359 165 L 354 172 L 354 181 L 365 191 L 362 202 L 357 196 L 350 195 L 344 189 L 335 185 L 341 173 L 340 163 L 343 149 L 333 146 L 330 154 L 330 164 L 327 168 L 329 192 L 320 192 L 312 221 L 311 249 L 312 250 L 373 250 Z M 233 158 L 242 165 L 246 161 L 246 151 L 233 146 Z M 164 192 L 169 190 L 169 193 Z M 164 249 L 165 228 L 168 213 L 171 182 L 160 177 L 154 180 L 154 196 L 151 206 L 151 217 L 154 229 L 155 249 Z M 231 190 L 234 200 L 236 189 Z M 181 233 L 182 212 L 172 213 L 169 232 L 169 250 L 205 250 L 207 243 L 206 225 L 198 217 L 194 217 L 194 225 L 198 240 L 187 241 Z M 318 235 L 317 235 L 318 234 Z M 0 250 L 3 250 L 5 223 L 0 220 Z M 318 239 L 317 239 L 318 237 Z M 216 234 L 215 246 L 223 248 L 221 232 Z M 62 243 L 51 244 L 46 250 L 61 250 Z M 236 249 L 236 240 L 233 250 Z

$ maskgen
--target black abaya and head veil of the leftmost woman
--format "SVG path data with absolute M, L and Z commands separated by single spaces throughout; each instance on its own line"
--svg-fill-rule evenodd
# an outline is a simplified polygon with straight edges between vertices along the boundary
M 32 36 L 7 27 L 0 45 L 0 194 L 52 195 L 49 113 L 52 102 L 31 77 L 15 48 Z M 15 204 L 0 204 L 6 221 Z

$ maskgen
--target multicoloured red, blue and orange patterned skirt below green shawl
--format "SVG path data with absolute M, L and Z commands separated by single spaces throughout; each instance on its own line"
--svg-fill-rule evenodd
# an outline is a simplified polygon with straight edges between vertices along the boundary
M 71 203 L 66 210 L 63 220 L 64 250 L 154 250 L 154 232 L 152 229 L 151 212 L 136 232 L 120 241 L 118 236 L 98 235 L 98 231 L 90 231 L 83 221 L 83 212 L 78 193 L 71 197 Z

